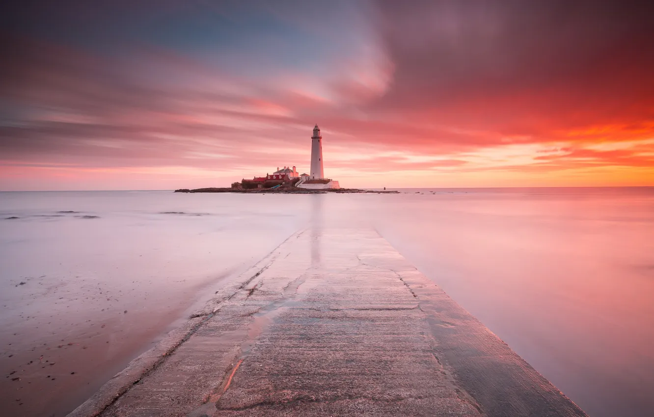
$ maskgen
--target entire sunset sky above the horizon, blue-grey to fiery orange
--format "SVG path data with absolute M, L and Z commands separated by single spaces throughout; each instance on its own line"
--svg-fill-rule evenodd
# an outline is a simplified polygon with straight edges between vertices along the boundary
M 0 190 L 654 186 L 647 3 L 4 2 Z

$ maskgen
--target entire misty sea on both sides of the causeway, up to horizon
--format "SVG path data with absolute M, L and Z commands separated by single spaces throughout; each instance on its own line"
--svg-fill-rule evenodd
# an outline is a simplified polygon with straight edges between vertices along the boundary
M 377 229 L 591 416 L 654 415 L 653 188 L 402 191 L 0 193 L 3 405 L 65 415 L 320 222 Z

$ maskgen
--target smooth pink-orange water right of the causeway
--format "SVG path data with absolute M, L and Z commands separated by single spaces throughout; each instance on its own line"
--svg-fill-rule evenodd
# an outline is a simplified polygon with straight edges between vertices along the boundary
M 421 190 L 378 231 L 591 417 L 654 416 L 654 189 Z

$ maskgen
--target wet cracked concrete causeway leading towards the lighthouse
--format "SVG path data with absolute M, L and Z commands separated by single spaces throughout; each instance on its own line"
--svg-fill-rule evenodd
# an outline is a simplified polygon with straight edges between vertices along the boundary
M 371 229 L 307 229 L 69 416 L 585 416 Z

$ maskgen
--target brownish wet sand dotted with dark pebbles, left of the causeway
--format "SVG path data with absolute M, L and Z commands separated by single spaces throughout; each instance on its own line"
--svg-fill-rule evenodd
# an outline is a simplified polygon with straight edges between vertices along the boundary
M 39 286 L 38 279 L 27 281 L 24 285 Z M 60 303 L 68 303 L 73 307 L 71 313 L 86 319 L 81 322 L 26 309 L 22 316 L 25 324 L 12 333 L 17 342 L 8 343 L 0 366 L 6 376 L 0 382 L 4 415 L 64 416 L 131 359 L 160 341 L 162 329 L 169 330 L 171 322 L 188 310 L 198 290 L 207 287 L 188 286 L 174 301 L 159 300 L 167 308 L 156 314 L 141 308 L 133 296 L 94 287 L 58 292 L 65 295 Z M 86 297 L 86 304 L 93 308 L 73 301 Z M 30 322 L 36 325 L 32 327 Z M 41 331 L 43 328 L 49 331 Z

